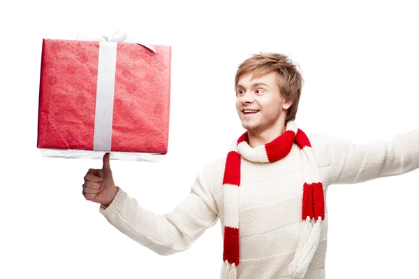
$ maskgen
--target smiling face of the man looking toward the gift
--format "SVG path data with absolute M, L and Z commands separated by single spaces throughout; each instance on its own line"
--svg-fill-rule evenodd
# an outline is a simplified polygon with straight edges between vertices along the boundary
M 253 72 L 250 72 L 240 77 L 236 108 L 244 129 L 260 134 L 285 122 L 284 109 L 288 109 L 291 103 L 285 103 L 279 94 L 276 73 L 267 73 L 254 80 L 251 80 L 252 76 Z

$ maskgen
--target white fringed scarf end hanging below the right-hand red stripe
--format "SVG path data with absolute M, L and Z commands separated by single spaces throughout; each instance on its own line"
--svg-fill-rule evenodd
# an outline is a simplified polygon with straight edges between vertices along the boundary
M 321 222 L 321 217 L 318 217 L 314 225 L 311 224 L 309 217 L 303 222 L 293 262 L 288 266 L 291 276 L 304 278 L 320 241 Z

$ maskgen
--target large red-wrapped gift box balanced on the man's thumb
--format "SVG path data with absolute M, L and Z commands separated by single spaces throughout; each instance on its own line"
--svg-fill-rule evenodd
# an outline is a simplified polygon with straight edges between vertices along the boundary
M 59 157 L 165 155 L 170 66 L 168 45 L 44 39 L 37 147 Z

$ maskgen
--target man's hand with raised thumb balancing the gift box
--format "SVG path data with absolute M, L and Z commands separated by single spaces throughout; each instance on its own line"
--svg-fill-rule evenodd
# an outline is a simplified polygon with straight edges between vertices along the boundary
M 108 207 L 118 192 L 109 164 L 110 152 L 103 155 L 102 169 L 89 169 L 84 176 L 83 196 L 88 201 Z

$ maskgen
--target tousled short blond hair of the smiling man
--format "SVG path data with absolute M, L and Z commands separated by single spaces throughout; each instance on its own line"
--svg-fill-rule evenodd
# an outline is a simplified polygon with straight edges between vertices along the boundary
M 300 67 L 298 66 L 298 68 Z M 238 67 L 235 75 L 235 90 L 237 90 L 237 83 L 240 77 L 251 71 L 253 71 L 252 80 L 264 76 L 267 73 L 277 73 L 279 93 L 286 101 L 293 100 L 292 105 L 288 108 L 285 123 L 295 120 L 301 89 L 304 83 L 301 73 L 297 70 L 297 65 L 293 64 L 291 59 L 286 55 L 260 52 L 260 54 L 253 55 L 244 60 Z

